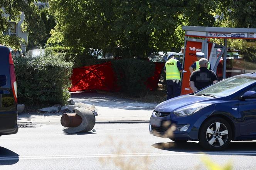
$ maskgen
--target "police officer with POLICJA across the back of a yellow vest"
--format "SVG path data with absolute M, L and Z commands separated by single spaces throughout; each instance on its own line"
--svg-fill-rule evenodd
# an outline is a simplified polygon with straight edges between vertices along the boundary
M 167 100 L 180 95 L 180 73 L 182 67 L 179 60 L 176 60 L 173 54 L 168 55 L 168 61 L 165 63 Z

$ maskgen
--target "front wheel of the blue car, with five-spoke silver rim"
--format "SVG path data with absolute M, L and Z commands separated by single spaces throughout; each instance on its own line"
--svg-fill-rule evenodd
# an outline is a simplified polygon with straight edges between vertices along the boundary
M 213 117 L 206 120 L 199 132 L 199 143 L 207 150 L 223 150 L 226 148 L 232 137 L 232 130 L 229 123 L 220 117 Z

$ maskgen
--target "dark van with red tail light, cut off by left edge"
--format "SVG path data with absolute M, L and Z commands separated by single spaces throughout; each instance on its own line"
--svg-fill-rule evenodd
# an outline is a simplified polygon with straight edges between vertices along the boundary
M 0 45 L 0 136 L 18 132 L 17 84 L 9 48 Z

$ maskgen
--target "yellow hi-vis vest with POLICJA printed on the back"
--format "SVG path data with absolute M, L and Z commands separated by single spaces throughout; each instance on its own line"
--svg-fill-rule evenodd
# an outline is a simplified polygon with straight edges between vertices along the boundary
M 166 68 L 166 80 L 180 80 L 180 71 L 177 67 L 177 61 L 171 58 L 165 63 Z

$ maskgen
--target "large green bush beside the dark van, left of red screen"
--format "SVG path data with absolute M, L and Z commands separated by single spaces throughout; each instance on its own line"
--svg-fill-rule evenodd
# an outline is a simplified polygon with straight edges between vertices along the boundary
M 72 62 L 64 55 L 46 52 L 37 58 L 14 58 L 18 102 L 33 104 L 64 104 L 70 97 Z

